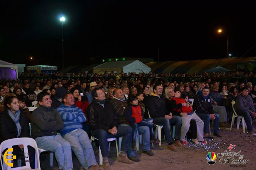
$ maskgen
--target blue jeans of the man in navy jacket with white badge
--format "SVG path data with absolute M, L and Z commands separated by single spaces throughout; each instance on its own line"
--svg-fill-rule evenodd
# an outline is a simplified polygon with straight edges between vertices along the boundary
M 204 133 L 209 133 L 209 123 L 211 120 L 211 115 L 210 114 L 205 114 L 205 113 L 200 113 L 196 111 L 196 114 L 199 116 L 200 119 L 203 121 L 203 132 Z M 213 133 L 218 133 L 219 132 L 219 114 L 215 114 L 215 119 L 213 121 Z

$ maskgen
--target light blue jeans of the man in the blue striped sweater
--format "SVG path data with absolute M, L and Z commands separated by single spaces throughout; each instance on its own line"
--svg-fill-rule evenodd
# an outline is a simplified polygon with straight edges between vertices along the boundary
M 98 165 L 90 139 L 83 129 L 67 133 L 64 139 L 69 141 L 71 150 L 84 169 L 88 169 L 92 165 Z

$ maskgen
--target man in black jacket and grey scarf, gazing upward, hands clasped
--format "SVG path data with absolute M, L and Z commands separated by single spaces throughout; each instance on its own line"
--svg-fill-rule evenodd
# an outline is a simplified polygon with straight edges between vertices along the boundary
M 117 112 L 111 103 L 106 101 L 105 93 L 100 88 L 94 88 L 91 91 L 91 95 L 94 99 L 87 109 L 87 115 L 91 129 L 93 130 L 93 136 L 99 140 L 104 170 L 111 170 L 108 161 L 108 138 L 123 137 L 118 161 L 134 164 L 134 162 L 129 160 L 126 156 L 131 141 L 132 128 L 128 126 L 118 126 Z

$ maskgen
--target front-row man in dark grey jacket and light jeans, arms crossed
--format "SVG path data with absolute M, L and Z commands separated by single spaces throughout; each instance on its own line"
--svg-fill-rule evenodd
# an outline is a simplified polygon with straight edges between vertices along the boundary
M 39 107 L 31 115 L 31 135 L 38 148 L 52 151 L 59 164 L 59 169 L 73 169 L 71 148 L 68 141 L 57 134 L 64 125 L 56 109 L 51 108 L 52 100 L 49 93 L 37 95 Z

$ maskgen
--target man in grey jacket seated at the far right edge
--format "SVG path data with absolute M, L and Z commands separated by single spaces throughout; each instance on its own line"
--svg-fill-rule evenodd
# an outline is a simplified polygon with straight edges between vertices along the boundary
M 251 124 L 251 116 L 254 118 L 256 117 L 256 110 L 253 105 L 252 97 L 248 95 L 247 88 L 244 87 L 241 89 L 241 95 L 237 96 L 234 109 L 239 116 L 244 117 L 249 134 L 255 136 L 256 134 L 253 132 L 253 127 Z

